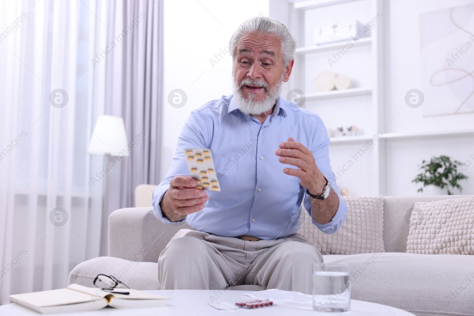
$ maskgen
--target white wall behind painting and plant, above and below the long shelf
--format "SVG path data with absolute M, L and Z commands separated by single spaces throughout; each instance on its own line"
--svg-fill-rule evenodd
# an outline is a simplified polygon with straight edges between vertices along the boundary
M 412 89 L 423 91 L 420 78 L 419 54 L 419 14 L 435 10 L 473 4 L 473 0 L 397 0 L 388 10 L 386 29 L 387 71 L 386 77 L 386 108 L 385 122 L 388 132 L 410 133 L 432 131 L 446 133 L 474 128 L 474 113 L 461 115 L 440 115 L 426 117 L 422 115 L 422 107 L 429 106 L 436 99 L 425 92 L 425 104 L 420 108 L 410 108 L 405 104 L 405 93 Z M 441 8 L 442 7 L 442 8 Z M 446 13 L 447 14 L 447 13 Z M 472 31 L 472 30 L 471 30 Z M 467 37 L 467 36 L 466 36 Z M 400 114 L 400 115 L 399 115 Z M 397 115 L 399 115 L 397 117 Z M 397 118 L 395 118 L 397 117 Z M 395 120 L 388 125 L 392 119 Z M 434 138 L 418 138 L 411 140 L 392 140 L 387 142 L 387 189 L 394 195 L 414 195 L 421 187 L 411 183 L 419 173 L 418 164 L 433 155 L 448 155 L 465 163 L 470 160 L 474 164 L 474 135 L 446 135 Z M 469 180 L 459 181 L 464 188 L 463 194 L 474 194 L 474 166 L 466 170 Z M 454 190 L 456 194 L 459 192 Z M 438 194 L 439 190 L 429 188 L 423 194 Z M 446 194 L 446 193 L 442 193 Z

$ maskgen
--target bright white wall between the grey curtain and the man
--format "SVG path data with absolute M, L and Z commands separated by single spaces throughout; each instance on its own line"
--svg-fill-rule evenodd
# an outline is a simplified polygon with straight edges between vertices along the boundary
M 173 160 L 178 135 L 191 110 L 221 95 L 232 93 L 232 58 L 217 64 L 210 58 L 228 46 L 230 36 L 247 18 L 268 16 L 268 0 L 164 1 L 164 115 L 161 179 Z M 227 49 L 228 50 L 228 49 Z M 168 94 L 182 89 L 182 108 L 168 103 Z

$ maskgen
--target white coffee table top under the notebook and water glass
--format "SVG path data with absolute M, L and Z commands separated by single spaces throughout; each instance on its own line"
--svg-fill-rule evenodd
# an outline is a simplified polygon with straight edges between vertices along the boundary
M 267 315 L 267 316 L 288 316 L 288 315 L 311 315 L 311 316 L 414 316 L 407 311 L 399 308 L 390 307 L 381 304 L 375 304 L 370 302 L 359 301 L 356 299 L 351 300 L 351 310 L 344 313 L 326 313 L 314 311 L 311 306 L 305 307 L 283 307 L 283 306 L 271 306 L 271 307 L 259 307 L 253 309 L 239 308 L 234 311 L 221 311 L 208 305 L 211 296 L 216 296 L 213 290 L 189 290 L 189 289 L 178 289 L 178 290 L 155 290 L 147 291 L 150 293 L 163 295 L 172 298 L 168 306 L 166 307 L 155 307 L 155 308 L 139 308 L 139 309 L 117 309 L 112 307 L 105 307 L 103 309 L 86 312 L 76 313 L 65 313 L 65 314 L 51 314 L 55 316 L 93 316 L 93 315 L 140 315 L 140 316 L 207 316 L 207 315 Z M 249 291 L 222 291 L 222 296 L 219 298 L 220 301 L 227 301 L 235 303 L 242 300 L 250 300 L 246 296 L 241 294 L 248 293 Z M 35 315 L 35 311 L 23 307 L 21 305 L 11 303 L 0 306 L 0 315 Z M 40 314 L 41 315 L 41 314 Z

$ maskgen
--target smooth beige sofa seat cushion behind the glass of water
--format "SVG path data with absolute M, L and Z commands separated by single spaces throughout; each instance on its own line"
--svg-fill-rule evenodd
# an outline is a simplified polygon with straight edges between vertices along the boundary
M 418 316 L 474 315 L 474 256 L 377 252 L 323 258 L 351 266 L 352 299 Z M 385 315 L 392 316 L 389 310 Z

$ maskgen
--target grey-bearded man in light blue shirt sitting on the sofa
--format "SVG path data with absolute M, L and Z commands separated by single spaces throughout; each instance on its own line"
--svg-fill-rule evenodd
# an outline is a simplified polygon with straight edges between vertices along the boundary
M 311 264 L 322 256 L 296 234 L 301 202 L 327 234 L 342 226 L 347 208 L 329 165 L 326 127 L 280 96 L 295 47 L 288 29 L 267 17 L 248 19 L 230 39 L 234 93 L 191 112 L 153 194 L 156 217 L 193 228 L 181 229 L 160 254 L 162 289 L 256 284 L 311 292 Z M 183 148 L 211 150 L 220 192 L 195 188 Z

